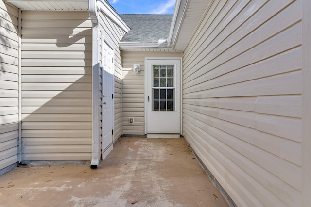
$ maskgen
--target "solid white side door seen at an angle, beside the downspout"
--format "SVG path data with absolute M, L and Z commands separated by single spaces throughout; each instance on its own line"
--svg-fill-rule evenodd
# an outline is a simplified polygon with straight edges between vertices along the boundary
M 102 159 L 104 159 L 113 148 L 114 126 L 114 50 L 104 41 L 102 57 Z

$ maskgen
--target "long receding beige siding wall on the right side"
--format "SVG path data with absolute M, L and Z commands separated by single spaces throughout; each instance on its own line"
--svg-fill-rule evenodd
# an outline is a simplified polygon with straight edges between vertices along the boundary
M 239 207 L 301 206 L 301 1 L 213 1 L 183 57 L 183 135 Z

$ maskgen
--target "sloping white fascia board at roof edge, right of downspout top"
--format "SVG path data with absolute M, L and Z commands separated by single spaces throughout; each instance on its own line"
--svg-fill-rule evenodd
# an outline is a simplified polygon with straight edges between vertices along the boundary
M 97 6 L 100 8 L 104 14 L 109 16 L 115 23 L 117 23 L 125 32 L 128 32 L 131 30 L 129 26 L 123 21 L 121 16 L 118 15 L 118 13 L 104 0 L 98 0 Z

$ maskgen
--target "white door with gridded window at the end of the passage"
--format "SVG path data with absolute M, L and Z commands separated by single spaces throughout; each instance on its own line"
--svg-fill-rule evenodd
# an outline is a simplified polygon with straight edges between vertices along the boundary
M 181 59 L 147 59 L 147 136 L 181 134 Z

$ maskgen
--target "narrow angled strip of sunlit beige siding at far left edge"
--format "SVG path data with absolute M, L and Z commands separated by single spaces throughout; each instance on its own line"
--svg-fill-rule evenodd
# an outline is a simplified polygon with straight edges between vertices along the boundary
M 0 1 L 0 170 L 18 162 L 18 11 Z

